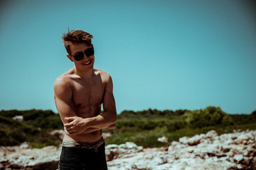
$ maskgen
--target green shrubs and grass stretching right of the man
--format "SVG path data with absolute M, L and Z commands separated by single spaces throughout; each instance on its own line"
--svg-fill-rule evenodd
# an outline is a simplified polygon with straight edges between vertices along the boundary
M 207 133 L 216 130 L 218 134 L 231 133 L 233 130 L 256 129 L 256 111 L 252 114 L 227 114 L 220 107 L 209 106 L 200 110 L 158 111 L 123 111 L 118 115 L 116 128 L 106 130 L 112 137 L 106 144 L 123 144 L 135 142 L 145 147 L 167 146 L 157 138 L 166 136 L 168 141 L 183 136 Z

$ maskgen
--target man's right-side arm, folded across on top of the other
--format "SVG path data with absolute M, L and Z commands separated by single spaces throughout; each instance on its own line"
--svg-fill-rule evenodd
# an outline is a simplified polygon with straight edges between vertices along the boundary
M 96 129 L 114 129 L 115 122 L 117 120 L 117 111 L 115 106 L 115 98 L 113 95 L 113 83 L 112 78 L 109 74 L 106 73 L 106 85 L 105 92 L 103 97 L 103 113 L 92 118 L 79 118 L 79 117 L 70 117 L 66 120 L 72 121 L 68 124 L 64 124 L 65 127 L 73 127 L 73 131 L 76 129 L 79 130 L 78 124 L 83 124 L 90 128 Z

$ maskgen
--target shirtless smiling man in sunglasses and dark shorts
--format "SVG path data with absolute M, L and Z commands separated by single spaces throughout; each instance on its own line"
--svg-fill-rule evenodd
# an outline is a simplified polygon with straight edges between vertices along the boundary
M 117 120 L 112 79 L 93 68 L 92 35 L 72 30 L 62 39 L 74 67 L 54 83 L 54 101 L 65 130 L 59 170 L 107 170 L 102 129 L 114 129 Z

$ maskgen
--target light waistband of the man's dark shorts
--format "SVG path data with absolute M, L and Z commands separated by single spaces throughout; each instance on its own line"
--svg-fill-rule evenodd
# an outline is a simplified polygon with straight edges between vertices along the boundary
M 94 152 L 98 152 L 98 148 L 104 143 L 103 137 L 98 142 L 85 143 L 85 142 L 72 142 L 63 139 L 62 146 L 70 148 L 83 148 L 83 149 L 94 149 Z

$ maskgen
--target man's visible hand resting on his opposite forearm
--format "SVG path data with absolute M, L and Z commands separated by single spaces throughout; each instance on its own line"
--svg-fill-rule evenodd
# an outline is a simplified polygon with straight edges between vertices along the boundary
M 87 119 L 74 116 L 65 118 L 65 120 L 69 121 L 69 123 L 64 124 L 64 126 L 71 136 L 78 135 L 88 128 L 88 126 L 86 126 L 88 123 Z

